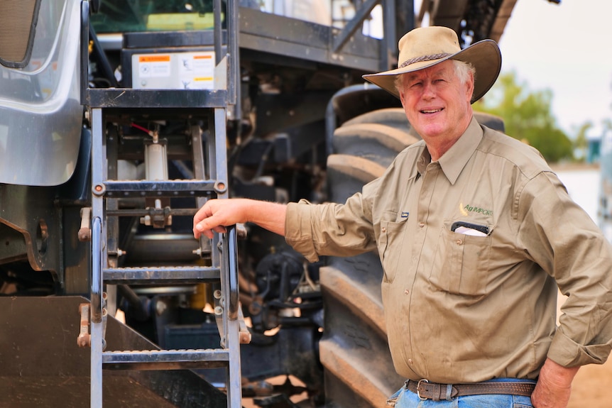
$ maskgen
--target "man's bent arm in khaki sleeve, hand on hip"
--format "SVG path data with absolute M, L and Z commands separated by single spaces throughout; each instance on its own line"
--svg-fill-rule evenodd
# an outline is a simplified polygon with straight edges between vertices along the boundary
M 610 351 L 610 309 L 600 305 L 611 302 L 612 250 L 552 172 L 532 178 L 520 196 L 522 247 L 568 295 L 532 402 L 537 408 L 564 408 L 579 366 L 601 364 Z

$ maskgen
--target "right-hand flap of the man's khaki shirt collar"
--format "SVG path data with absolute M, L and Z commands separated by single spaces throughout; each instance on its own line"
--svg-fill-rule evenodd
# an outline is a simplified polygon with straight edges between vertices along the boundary
M 439 158 L 438 162 L 444 175 L 454 184 L 482 140 L 483 130 L 476 118 L 472 117 L 466 131 L 457 139 L 454 145 Z M 429 154 L 429 153 L 427 153 Z

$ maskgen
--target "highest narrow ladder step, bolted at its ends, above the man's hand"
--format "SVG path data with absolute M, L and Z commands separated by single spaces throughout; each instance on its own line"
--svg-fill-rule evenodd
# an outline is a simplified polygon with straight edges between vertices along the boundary
M 94 192 L 108 197 L 196 197 L 216 191 L 216 180 L 106 180 Z

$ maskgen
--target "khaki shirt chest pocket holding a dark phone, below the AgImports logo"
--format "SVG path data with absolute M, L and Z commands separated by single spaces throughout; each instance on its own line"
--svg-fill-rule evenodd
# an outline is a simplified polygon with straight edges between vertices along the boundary
M 430 274 L 430 282 L 435 288 L 472 297 L 486 294 L 493 226 L 488 228 L 487 236 L 472 236 L 450 231 L 450 227 L 445 226 L 439 236 Z

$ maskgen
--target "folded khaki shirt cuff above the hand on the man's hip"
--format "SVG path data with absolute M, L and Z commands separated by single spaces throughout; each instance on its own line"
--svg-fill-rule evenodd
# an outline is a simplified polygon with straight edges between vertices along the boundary
M 548 358 L 567 368 L 578 365 L 603 364 L 606 363 L 610 354 L 610 348 L 609 344 L 584 346 L 576 343 L 559 328 L 552 338 Z

